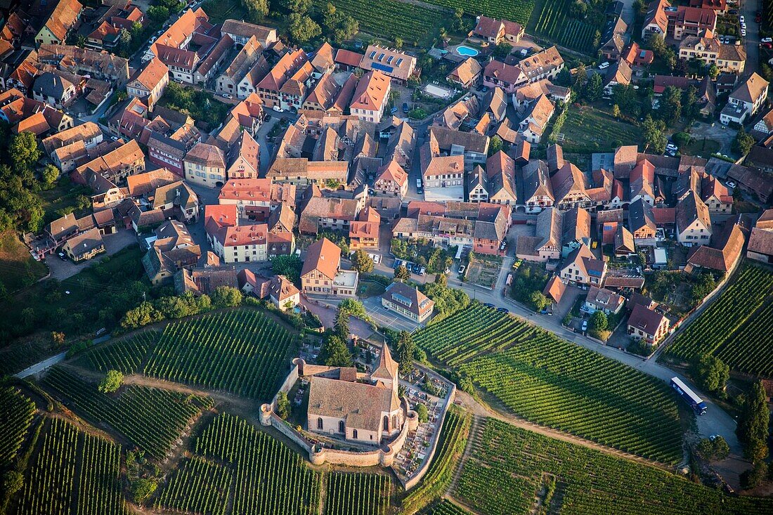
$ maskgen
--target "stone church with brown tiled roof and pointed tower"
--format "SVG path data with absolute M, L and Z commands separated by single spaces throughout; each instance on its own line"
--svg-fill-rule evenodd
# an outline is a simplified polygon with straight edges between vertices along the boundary
M 397 394 L 398 364 L 389 346 L 382 347 L 373 373 L 353 367 L 322 370 L 308 377 L 308 431 L 376 446 L 400 433 L 405 412 Z

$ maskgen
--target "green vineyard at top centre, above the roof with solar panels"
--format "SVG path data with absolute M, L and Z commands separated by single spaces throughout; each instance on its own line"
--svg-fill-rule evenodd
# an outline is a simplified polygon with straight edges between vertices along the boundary
M 399 0 L 314 0 L 318 9 L 327 3 L 356 19 L 363 32 L 410 44 L 431 36 L 442 18 L 437 11 Z

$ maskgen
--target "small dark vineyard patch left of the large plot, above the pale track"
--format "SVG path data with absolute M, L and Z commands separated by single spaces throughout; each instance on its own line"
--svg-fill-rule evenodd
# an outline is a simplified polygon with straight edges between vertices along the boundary
M 122 373 L 135 373 L 157 340 L 157 332 L 143 331 L 130 338 L 87 350 L 78 358 L 77 364 L 101 372 L 119 370 Z

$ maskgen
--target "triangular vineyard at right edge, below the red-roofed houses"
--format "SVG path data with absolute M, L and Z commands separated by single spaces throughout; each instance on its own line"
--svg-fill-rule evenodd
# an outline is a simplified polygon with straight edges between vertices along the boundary
M 733 370 L 773 376 L 771 291 L 773 272 L 744 265 L 735 281 L 676 337 L 666 355 L 690 361 L 714 354 Z

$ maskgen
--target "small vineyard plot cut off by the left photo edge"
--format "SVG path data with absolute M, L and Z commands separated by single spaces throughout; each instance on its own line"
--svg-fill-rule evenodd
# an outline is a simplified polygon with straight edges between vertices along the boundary
M 35 415 L 35 404 L 17 388 L 0 388 L 0 471 L 15 458 Z

